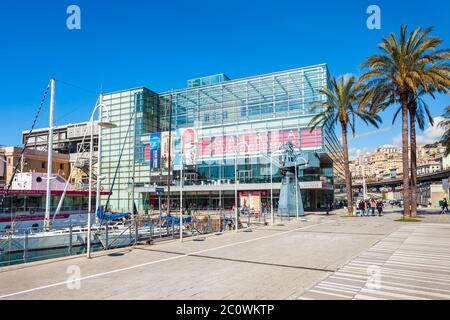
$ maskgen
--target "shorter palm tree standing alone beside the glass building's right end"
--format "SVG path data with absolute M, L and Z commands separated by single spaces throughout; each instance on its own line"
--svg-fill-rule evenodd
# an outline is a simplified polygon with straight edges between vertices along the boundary
M 319 111 L 311 121 L 311 131 L 317 126 L 333 128 L 340 123 L 342 129 L 342 145 L 344 149 L 344 171 L 345 187 L 347 191 L 348 214 L 353 213 L 353 194 L 352 183 L 348 158 L 347 134 L 351 131 L 355 134 L 355 119 L 359 118 L 366 124 L 371 124 L 378 128 L 381 118 L 367 112 L 367 106 L 371 101 L 367 94 L 366 86 L 355 79 L 355 76 L 339 80 L 331 79 L 330 88 L 322 88 L 319 94 L 326 97 L 324 101 L 318 101 L 313 104 L 312 111 Z

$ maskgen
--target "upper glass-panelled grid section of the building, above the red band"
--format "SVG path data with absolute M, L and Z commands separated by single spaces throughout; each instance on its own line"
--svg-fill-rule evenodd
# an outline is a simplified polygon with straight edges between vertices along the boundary
M 325 99 L 318 90 L 328 86 L 328 81 L 327 65 L 321 64 L 188 87 L 162 93 L 160 97 L 166 102 L 172 100 L 175 123 L 180 127 L 223 125 L 275 116 L 310 115 L 310 103 Z

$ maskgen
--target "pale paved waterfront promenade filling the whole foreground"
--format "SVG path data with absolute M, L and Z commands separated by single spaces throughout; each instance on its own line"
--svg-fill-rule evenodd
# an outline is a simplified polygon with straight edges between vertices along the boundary
M 0 299 L 450 299 L 450 217 L 342 214 L 5 267 Z M 382 294 L 366 291 L 377 266 Z

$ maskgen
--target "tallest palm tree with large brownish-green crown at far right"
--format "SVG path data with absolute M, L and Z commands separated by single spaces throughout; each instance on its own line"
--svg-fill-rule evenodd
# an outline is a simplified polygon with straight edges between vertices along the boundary
M 409 185 L 409 132 L 408 113 L 410 97 L 420 90 L 433 92 L 445 90 L 450 85 L 450 51 L 437 51 L 442 40 L 431 37 L 432 28 L 417 28 L 407 36 L 407 27 L 402 26 L 400 39 L 395 33 L 384 37 L 378 48 L 381 54 L 371 56 L 362 65 L 368 68 L 361 76 L 376 96 L 385 96 L 390 101 L 401 102 L 402 148 L 403 148 L 403 201 L 404 215 L 411 214 Z

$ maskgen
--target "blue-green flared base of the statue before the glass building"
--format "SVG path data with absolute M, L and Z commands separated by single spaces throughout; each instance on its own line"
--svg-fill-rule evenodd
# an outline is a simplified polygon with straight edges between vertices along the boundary
M 297 188 L 297 193 L 295 192 Z M 296 197 L 297 196 L 297 197 Z M 297 201 L 296 201 L 297 200 Z M 295 183 L 295 174 L 287 172 L 283 177 L 280 190 L 280 201 L 278 203 L 278 215 L 282 217 L 304 216 L 302 194 L 299 184 Z

